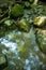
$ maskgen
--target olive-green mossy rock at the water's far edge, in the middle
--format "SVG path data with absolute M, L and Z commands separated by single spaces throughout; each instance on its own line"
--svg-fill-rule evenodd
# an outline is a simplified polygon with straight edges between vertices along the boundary
M 21 19 L 18 22 L 17 26 L 22 29 L 24 31 L 29 31 L 30 30 L 30 27 L 29 27 L 29 23 L 27 19 Z

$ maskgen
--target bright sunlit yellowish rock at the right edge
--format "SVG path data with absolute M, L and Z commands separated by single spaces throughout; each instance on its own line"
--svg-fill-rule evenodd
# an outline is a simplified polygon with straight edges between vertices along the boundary
M 44 25 L 46 24 L 46 16 L 35 17 L 33 24 L 37 27 L 44 27 Z

